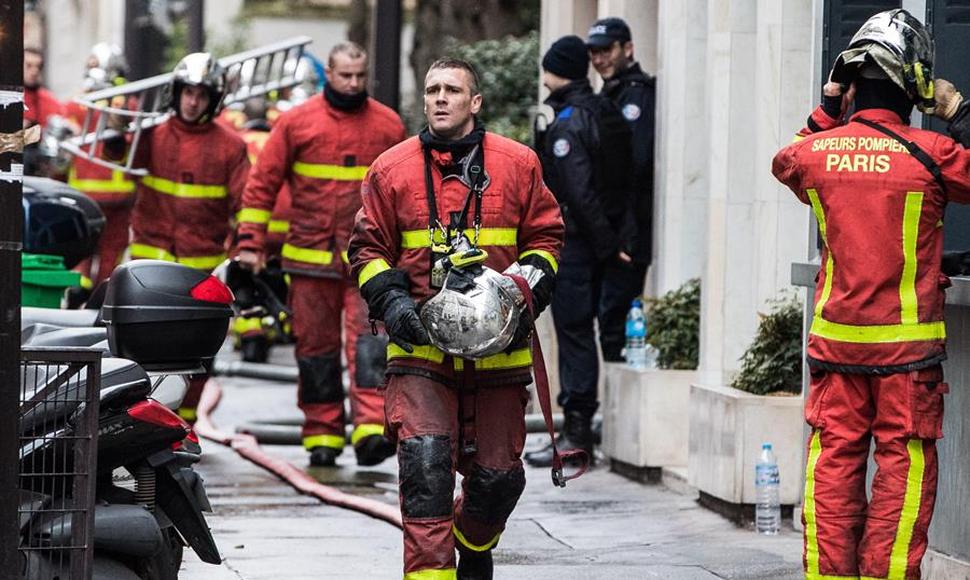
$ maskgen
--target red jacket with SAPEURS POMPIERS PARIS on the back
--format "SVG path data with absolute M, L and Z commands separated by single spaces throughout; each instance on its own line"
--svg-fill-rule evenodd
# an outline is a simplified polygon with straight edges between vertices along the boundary
M 860 119 L 928 153 L 946 191 L 902 144 Z M 949 285 L 940 271 L 943 213 L 949 201 L 970 203 L 970 151 L 888 110 L 863 110 L 836 127 L 819 109 L 812 121 L 823 130 L 803 130 L 772 167 L 811 205 L 824 243 L 809 362 L 859 372 L 937 364 Z

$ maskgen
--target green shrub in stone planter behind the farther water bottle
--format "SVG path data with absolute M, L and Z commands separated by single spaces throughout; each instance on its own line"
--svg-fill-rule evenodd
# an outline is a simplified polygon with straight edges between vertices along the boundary
M 659 298 L 647 299 L 647 343 L 657 349 L 657 366 L 697 368 L 700 321 L 701 281 L 697 278 Z

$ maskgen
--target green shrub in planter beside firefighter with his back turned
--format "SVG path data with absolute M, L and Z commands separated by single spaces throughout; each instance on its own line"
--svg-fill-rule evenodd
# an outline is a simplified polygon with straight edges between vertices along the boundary
M 767 395 L 802 391 L 802 306 L 792 296 L 769 301 L 754 342 L 741 357 L 731 386 Z

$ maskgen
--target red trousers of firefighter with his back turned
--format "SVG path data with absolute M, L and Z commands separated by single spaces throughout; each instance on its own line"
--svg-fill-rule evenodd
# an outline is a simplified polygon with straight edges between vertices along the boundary
M 812 372 L 806 580 L 920 577 L 947 390 L 939 366 L 887 376 Z M 877 470 L 867 501 L 871 439 Z

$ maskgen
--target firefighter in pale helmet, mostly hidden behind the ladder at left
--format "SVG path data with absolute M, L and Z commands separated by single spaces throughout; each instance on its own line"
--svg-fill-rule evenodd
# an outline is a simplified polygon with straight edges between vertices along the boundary
M 117 46 L 104 42 L 94 45 L 84 76 L 85 92 L 124 83 L 126 68 L 124 56 Z M 80 128 L 87 109 L 71 102 L 65 107 L 65 113 Z M 96 122 L 97 117 L 92 120 L 92 126 Z M 68 170 L 67 183 L 98 202 L 106 220 L 98 238 L 97 253 L 77 267 L 83 276 L 82 285 L 90 289 L 111 275 L 128 245 L 128 219 L 134 202 L 135 182 L 120 170 L 75 157 Z

